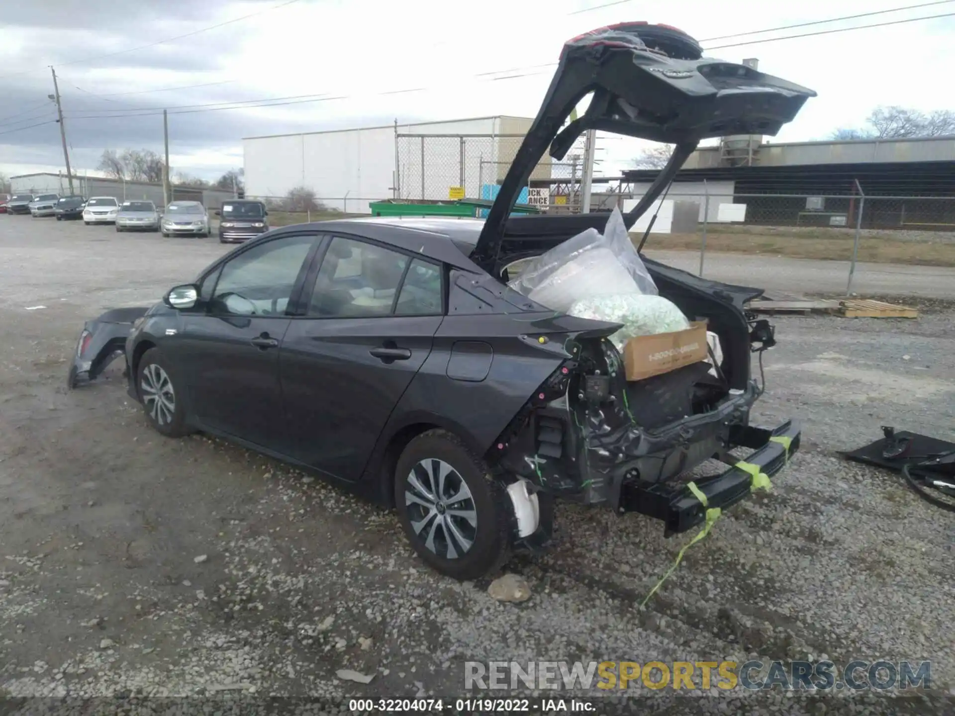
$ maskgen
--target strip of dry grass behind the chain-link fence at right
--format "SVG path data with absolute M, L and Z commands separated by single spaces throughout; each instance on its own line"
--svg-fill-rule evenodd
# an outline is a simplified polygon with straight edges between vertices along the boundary
M 648 249 L 699 251 L 702 234 L 655 234 Z M 850 261 L 853 237 L 805 235 L 765 236 L 709 232 L 707 251 L 766 254 L 793 259 Z M 871 263 L 909 263 L 925 266 L 955 266 L 955 243 L 913 242 L 892 239 L 859 239 L 859 261 Z

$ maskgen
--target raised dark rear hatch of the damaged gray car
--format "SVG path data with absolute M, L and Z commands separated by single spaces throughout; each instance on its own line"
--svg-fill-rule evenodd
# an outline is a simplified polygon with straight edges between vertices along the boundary
M 510 170 L 471 258 L 499 275 L 502 244 L 550 232 L 566 235 L 567 221 L 511 217 L 521 188 L 545 151 L 562 159 L 588 129 L 675 144 L 667 166 L 647 194 L 625 215 L 630 228 L 657 199 L 701 139 L 733 134 L 775 135 L 791 121 L 812 90 L 745 65 L 704 58 L 695 40 L 665 25 L 620 23 L 574 37 L 561 60 Z M 567 119 L 592 97 L 584 116 Z M 564 219 L 564 218 L 561 218 Z M 605 214 L 574 218 L 574 230 L 602 227 Z M 516 250 L 505 251 L 511 257 Z

